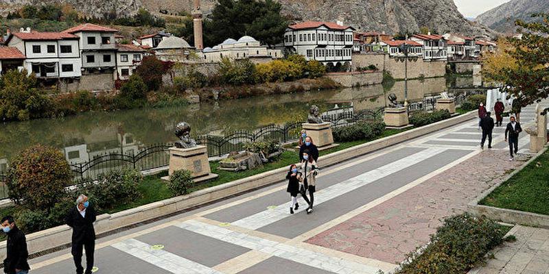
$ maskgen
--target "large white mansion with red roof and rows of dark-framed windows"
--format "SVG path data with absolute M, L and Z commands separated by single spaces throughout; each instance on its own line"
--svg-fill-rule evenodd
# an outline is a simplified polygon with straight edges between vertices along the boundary
M 284 47 L 290 53 L 317 60 L 327 66 L 351 66 L 353 27 L 341 22 L 307 21 L 288 26 Z

